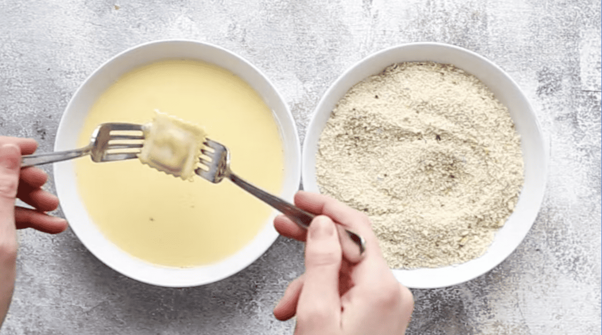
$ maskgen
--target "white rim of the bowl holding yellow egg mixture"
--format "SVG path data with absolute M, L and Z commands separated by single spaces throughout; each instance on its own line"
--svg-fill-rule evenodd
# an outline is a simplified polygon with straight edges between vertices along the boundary
M 69 143 L 63 134 L 67 131 L 67 129 L 72 127 L 72 124 L 70 124 L 69 121 L 72 119 L 73 114 L 87 114 L 87 111 L 75 111 L 73 106 L 76 104 L 76 99 L 81 97 L 82 92 L 86 90 L 88 85 L 90 85 L 90 82 L 101 80 L 98 79 L 101 75 L 107 76 L 106 72 L 108 69 L 111 69 L 112 64 L 128 57 L 128 55 L 131 55 L 134 52 L 140 52 L 144 49 L 152 48 L 167 48 L 167 46 L 175 45 L 183 45 L 186 48 L 194 49 L 194 51 L 197 52 L 199 50 L 204 50 L 223 55 L 223 57 L 227 58 L 227 60 L 209 61 L 202 59 L 202 57 L 195 59 L 217 64 L 218 66 L 235 73 L 235 75 L 243 78 L 243 80 L 251 85 L 264 100 L 271 100 L 271 102 L 265 101 L 265 103 L 272 109 L 272 114 L 275 117 L 276 123 L 278 124 L 279 134 L 282 138 L 285 155 L 285 179 L 280 196 L 285 198 L 285 200 L 292 201 L 293 195 L 299 188 L 300 183 L 301 153 L 297 127 L 294 123 L 293 115 L 291 114 L 287 103 L 285 103 L 281 93 L 276 90 L 276 87 L 273 85 L 272 81 L 270 81 L 270 79 L 263 72 L 261 72 L 245 58 L 241 57 L 235 52 L 229 51 L 228 49 L 203 41 L 188 39 L 163 39 L 148 41 L 146 43 L 132 46 L 125 51 L 119 52 L 109 60 L 105 61 L 103 64 L 101 64 L 101 66 L 95 69 L 84 82 L 82 82 L 82 84 L 71 97 L 58 125 L 54 150 L 60 151 L 73 149 L 73 144 Z M 187 50 L 183 52 L 187 53 L 191 51 Z M 154 61 L 160 61 L 169 58 L 191 57 L 173 56 L 151 58 L 152 59 L 149 61 L 140 61 L 129 68 L 127 66 L 123 67 L 123 69 L 120 69 L 117 74 L 111 73 L 108 76 L 113 76 L 113 79 L 117 79 L 135 67 L 153 63 Z M 233 67 L 240 66 L 245 72 L 248 73 L 237 73 L 236 70 L 219 64 L 220 62 L 227 63 L 228 61 L 234 62 L 233 64 L 235 65 L 232 65 Z M 256 78 L 258 82 L 250 82 L 244 78 L 244 76 Z M 261 86 L 262 91 L 258 89 L 258 86 Z M 102 88 L 101 92 L 107 87 L 108 85 Z M 93 100 L 96 100 L 97 97 L 98 96 L 95 96 Z M 278 232 L 276 232 L 275 228 L 273 227 L 273 224 L 271 224 L 273 218 L 277 214 L 277 212 L 274 210 L 272 211 L 270 217 L 266 220 L 264 228 L 259 231 L 255 239 L 250 241 L 249 244 L 237 251 L 237 253 L 234 255 L 226 257 L 226 259 L 223 259 L 220 262 L 206 266 L 196 266 L 193 268 L 170 268 L 167 266 L 154 265 L 137 259 L 121 250 L 112 242 L 108 241 L 98 229 L 92 233 L 88 232 L 87 230 L 94 230 L 95 226 L 93 226 L 93 224 L 90 226 L 92 220 L 87 217 L 87 212 L 85 212 L 85 209 L 83 209 L 81 199 L 79 199 L 78 196 L 75 196 L 74 198 L 73 194 L 74 192 L 76 193 L 77 190 L 76 187 L 74 187 L 75 184 L 73 182 L 73 180 L 75 180 L 73 161 L 57 162 L 54 164 L 53 170 L 57 195 L 61 200 L 61 209 L 63 210 L 67 220 L 69 220 L 70 227 L 75 235 L 78 236 L 78 239 L 82 242 L 82 244 L 84 244 L 90 253 L 95 255 L 99 260 L 101 260 L 101 262 L 105 263 L 105 265 L 113 268 L 115 271 L 120 272 L 123 275 L 126 275 L 126 277 L 133 278 L 134 280 L 138 280 L 143 283 L 163 287 L 192 287 L 222 280 L 234 275 L 235 273 L 249 266 L 251 263 L 255 262 L 255 260 L 262 256 L 262 254 L 267 251 L 267 249 L 273 244 L 273 242 L 276 241 L 276 238 L 279 236 Z M 81 206 L 81 208 L 77 209 L 76 207 L 78 206 Z M 78 220 L 87 221 L 87 225 L 85 226 L 86 229 L 84 229 L 84 226 L 81 224 L 78 224 Z M 98 239 L 101 242 L 97 243 L 98 241 L 92 241 L 91 235 L 94 239 Z M 101 238 L 99 238 L 99 236 Z

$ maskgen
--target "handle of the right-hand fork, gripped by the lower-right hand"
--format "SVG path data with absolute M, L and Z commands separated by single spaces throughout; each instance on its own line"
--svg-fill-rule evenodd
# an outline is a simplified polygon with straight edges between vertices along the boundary
M 288 218 L 293 220 L 297 226 L 302 227 L 303 229 L 308 229 L 309 224 L 312 220 L 314 220 L 315 215 L 309 212 L 303 211 L 299 207 L 294 206 L 288 201 L 285 201 L 275 195 L 272 195 L 264 190 L 252 185 L 246 180 L 238 177 L 234 173 L 229 173 L 229 178 L 233 183 L 243 188 L 245 191 L 250 194 L 255 195 L 259 199 L 263 200 L 265 203 L 270 206 L 281 211 L 282 214 L 286 215 Z M 339 241 L 341 242 L 341 248 L 343 250 L 343 255 L 347 260 L 353 263 L 358 263 L 362 257 L 364 256 L 365 250 L 365 242 L 364 238 L 359 236 L 356 233 L 351 232 L 350 230 L 345 229 L 341 224 L 336 224 L 337 232 L 339 235 Z

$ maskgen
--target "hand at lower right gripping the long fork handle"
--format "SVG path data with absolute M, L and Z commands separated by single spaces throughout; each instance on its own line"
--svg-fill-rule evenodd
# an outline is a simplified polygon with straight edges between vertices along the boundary
M 276 318 L 297 315 L 299 335 L 405 333 L 414 298 L 386 265 L 368 217 L 326 195 L 300 191 L 294 200 L 319 216 L 307 232 L 284 215 L 274 220 L 281 235 L 306 241 L 305 274 L 288 286 Z M 343 259 L 333 220 L 364 237 L 359 263 Z

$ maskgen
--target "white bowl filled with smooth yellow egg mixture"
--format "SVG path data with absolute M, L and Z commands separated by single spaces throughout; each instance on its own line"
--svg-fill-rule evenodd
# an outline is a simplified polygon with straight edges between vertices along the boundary
M 199 41 L 153 41 L 102 64 L 67 105 L 54 149 L 87 145 L 101 123 L 152 125 L 158 115 L 167 129 L 179 124 L 225 145 L 238 176 L 292 200 L 300 146 L 286 103 L 248 61 Z M 158 136 L 157 143 L 164 142 Z M 277 212 L 229 180 L 181 178 L 140 159 L 95 163 L 88 157 L 55 163 L 54 177 L 82 244 L 144 283 L 190 287 L 226 278 L 278 236 Z

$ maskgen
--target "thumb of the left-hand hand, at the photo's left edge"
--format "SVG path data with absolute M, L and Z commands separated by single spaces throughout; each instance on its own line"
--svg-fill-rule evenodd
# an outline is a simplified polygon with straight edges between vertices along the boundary
M 21 152 L 19 147 L 15 146 L 14 144 L 2 145 L 0 147 L 1 226 L 5 226 L 7 223 L 6 220 L 12 220 L 14 225 L 14 200 L 17 195 L 17 187 L 19 186 L 20 167 Z

